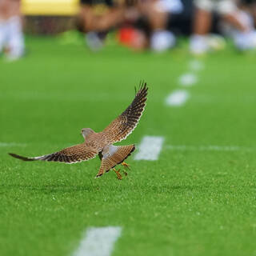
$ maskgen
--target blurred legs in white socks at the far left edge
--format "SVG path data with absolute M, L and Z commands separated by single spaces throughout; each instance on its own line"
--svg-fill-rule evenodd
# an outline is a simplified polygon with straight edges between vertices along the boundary
M 0 0 L 0 53 L 6 52 L 10 60 L 24 54 L 20 0 Z

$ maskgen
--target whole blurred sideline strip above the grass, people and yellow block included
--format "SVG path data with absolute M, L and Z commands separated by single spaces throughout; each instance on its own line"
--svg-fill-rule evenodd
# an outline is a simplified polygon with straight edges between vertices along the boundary
M 189 37 L 191 54 L 222 50 L 226 38 L 240 51 L 256 47 L 254 0 L 1 0 L 0 51 L 26 53 L 24 34 L 83 38 L 101 50 L 109 34 L 133 50 L 163 52 Z M 80 41 L 81 42 L 81 41 Z

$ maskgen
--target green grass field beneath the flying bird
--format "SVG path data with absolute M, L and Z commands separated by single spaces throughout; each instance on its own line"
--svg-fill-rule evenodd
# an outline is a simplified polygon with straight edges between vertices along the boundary
M 26 58 L 0 60 L 2 256 L 72 255 L 90 226 L 122 226 L 113 256 L 256 255 L 254 54 L 229 47 L 202 58 L 190 98 L 170 107 L 165 98 L 181 88 L 192 59 L 186 48 L 90 53 L 53 38 L 29 38 L 27 46 Z M 158 161 L 131 156 L 119 181 L 113 171 L 94 179 L 98 158 L 65 165 L 7 155 L 82 142 L 80 130 L 105 128 L 141 79 L 150 87 L 146 111 L 121 144 L 162 136 Z

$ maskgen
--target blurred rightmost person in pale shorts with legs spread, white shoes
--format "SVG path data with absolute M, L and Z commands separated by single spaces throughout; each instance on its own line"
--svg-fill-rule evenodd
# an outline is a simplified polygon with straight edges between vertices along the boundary
M 190 38 L 190 51 L 193 54 L 204 54 L 210 50 L 209 34 L 212 14 L 217 12 L 223 21 L 238 31 L 234 43 L 239 50 L 248 50 L 254 47 L 253 30 L 248 22 L 240 18 L 238 6 L 234 0 L 195 0 L 196 13 L 194 17 L 194 31 Z

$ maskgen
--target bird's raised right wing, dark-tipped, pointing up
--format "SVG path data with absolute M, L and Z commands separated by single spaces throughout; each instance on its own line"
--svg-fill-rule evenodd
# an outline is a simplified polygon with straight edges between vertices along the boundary
M 120 142 L 132 133 L 146 106 L 147 90 L 146 82 L 142 82 L 130 106 L 102 131 L 108 144 Z

